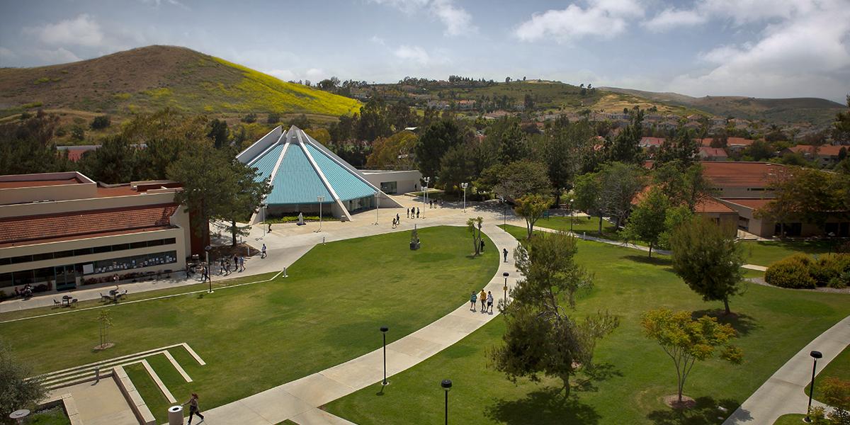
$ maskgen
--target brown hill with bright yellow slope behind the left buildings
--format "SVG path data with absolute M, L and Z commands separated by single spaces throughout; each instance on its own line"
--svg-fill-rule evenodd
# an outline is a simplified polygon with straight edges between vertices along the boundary
M 166 106 L 212 115 L 339 116 L 357 111 L 360 102 L 172 46 L 134 48 L 70 64 L 0 69 L 0 116 L 35 108 L 122 116 Z

